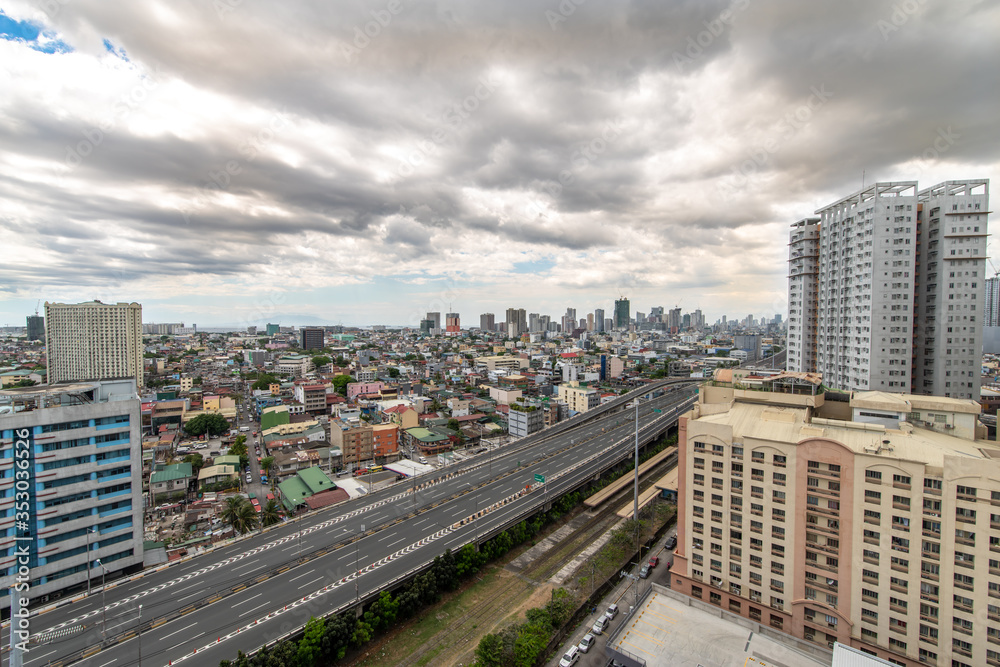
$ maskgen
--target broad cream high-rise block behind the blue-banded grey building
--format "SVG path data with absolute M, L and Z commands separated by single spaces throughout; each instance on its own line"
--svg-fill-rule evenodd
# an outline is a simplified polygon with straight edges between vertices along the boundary
M 143 386 L 142 306 L 138 303 L 45 303 L 50 384 L 134 378 Z

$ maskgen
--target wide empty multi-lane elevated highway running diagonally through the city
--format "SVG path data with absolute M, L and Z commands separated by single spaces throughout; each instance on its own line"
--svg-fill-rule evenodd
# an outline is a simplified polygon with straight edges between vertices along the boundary
M 141 648 L 147 665 L 214 665 L 255 650 L 310 616 L 398 586 L 445 549 L 482 542 L 599 477 L 632 455 L 634 410 L 626 404 L 649 397 L 639 408 L 646 444 L 689 408 L 694 386 L 649 385 L 491 459 L 448 466 L 419 486 L 404 482 L 182 564 L 109 582 L 35 614 L 32 633 L 46 641 L 24 664 L 119 667 L 137 664 Z

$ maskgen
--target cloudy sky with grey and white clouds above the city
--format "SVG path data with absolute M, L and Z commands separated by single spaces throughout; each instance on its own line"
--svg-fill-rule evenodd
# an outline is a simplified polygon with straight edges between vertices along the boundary
M 996 0 L 0 0 L 0 325 L 773 317 L 791 223 L 996 182 L 997 34 Z

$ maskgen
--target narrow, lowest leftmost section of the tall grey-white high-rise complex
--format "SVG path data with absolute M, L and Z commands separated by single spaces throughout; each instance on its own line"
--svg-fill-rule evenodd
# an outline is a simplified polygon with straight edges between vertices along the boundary
M 816 368 L 819 218 L 792 225 L 788 244 L 788 370 Z M 725 323 L 723 323 L 725 324 Z

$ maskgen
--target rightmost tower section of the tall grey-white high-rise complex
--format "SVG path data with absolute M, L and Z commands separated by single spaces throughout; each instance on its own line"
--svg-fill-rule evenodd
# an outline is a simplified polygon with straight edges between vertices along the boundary
M 915 393 L 979 400 L 988 185 L 946 181 L 918 195 Z

